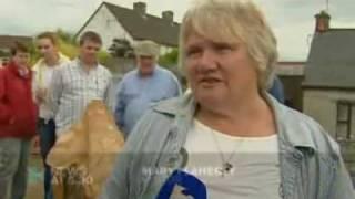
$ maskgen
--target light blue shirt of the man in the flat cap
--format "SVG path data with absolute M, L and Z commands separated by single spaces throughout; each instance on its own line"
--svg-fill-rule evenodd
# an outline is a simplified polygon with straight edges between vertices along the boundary
M 142 77 L 138 70 L 125 74 L 118 86 L 115 122 L 128 137 L 151 104 L 180 95 L 181 86 L 170 71 L 155 66 Z

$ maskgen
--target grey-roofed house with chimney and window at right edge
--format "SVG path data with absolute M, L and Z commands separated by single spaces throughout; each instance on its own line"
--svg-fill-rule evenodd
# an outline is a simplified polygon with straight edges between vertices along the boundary
M 355 177 L 355 29 L 332 29 L 331 17 L 324 11 L 315 18 L 303 111 L 341 144 Z

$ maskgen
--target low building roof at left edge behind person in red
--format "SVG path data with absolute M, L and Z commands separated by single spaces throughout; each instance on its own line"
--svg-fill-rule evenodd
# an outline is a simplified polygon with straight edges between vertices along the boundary
M 21 35 L 0 35 L 0 65 L 9 61 L 11 46 L 17 41 L 30 44 L 32 42 L 32 38 Z

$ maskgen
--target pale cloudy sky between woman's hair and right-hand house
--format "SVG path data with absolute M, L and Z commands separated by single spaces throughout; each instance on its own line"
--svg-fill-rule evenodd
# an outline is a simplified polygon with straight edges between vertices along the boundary
M 354 0 L 329 0 L 331 28 L 355 28 Z M 315 29 L 314 15 L 326 9 L 325 0 L 257 0 L 277 41 L 280 60 L 305 61 Z

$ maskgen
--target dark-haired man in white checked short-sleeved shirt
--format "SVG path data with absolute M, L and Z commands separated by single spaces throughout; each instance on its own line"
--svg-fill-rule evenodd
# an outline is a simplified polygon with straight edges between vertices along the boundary
M 110 104 L 111 73 L 98 62 L 101 45 L 99 34 L 92 31 L 83 33 L 80 38 L 79 57 L 57 69 L 53 74 L 50 104 L 55 118 L 57 136 L 81 118 L 92 100 Z

